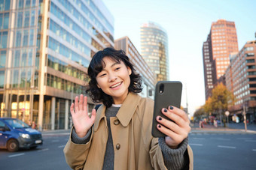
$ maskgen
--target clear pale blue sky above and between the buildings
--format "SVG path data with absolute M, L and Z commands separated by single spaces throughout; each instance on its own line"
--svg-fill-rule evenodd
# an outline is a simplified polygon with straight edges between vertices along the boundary
M 181 105 L 193 115 L 205 103 L 203 41 L 212 22 L 236 24 L 239 50 L 255 40 L 256 1 L 253 0 L 102 0 L 114 16 L 114 39 L 128 36 L 140 52 L 140 26 L 157 22 L 168 34 L 170 80 L 184 85 Z

